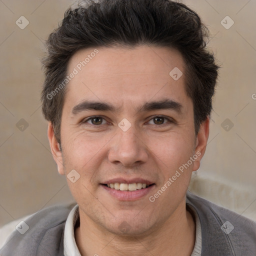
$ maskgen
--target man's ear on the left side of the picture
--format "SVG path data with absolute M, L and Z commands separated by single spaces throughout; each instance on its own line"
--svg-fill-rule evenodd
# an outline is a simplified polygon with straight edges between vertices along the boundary
M 50 150 L 51 150 L 53 159 L 55 160 L 58 167 L 58 173 L 61 175 L 65 175 L 64 168 L 63 168 L 62 152 L 60 149 L 60 145 L 54 136 L 51 122 L 48 123 L 48 139 L 49 139 Z

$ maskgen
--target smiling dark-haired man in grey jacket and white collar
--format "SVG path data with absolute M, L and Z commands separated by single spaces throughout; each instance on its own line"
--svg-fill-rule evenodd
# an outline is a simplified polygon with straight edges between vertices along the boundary
M 0 255 L 255 255 L 256 224 L 187 191 L 218 66 L 198 15 L 100 0 L 50 34 L 43 114 L 76 205 L 50 207 Z

